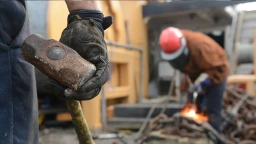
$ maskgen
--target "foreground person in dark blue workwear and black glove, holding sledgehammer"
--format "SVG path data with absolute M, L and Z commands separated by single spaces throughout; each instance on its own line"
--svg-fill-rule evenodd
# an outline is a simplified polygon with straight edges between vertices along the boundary
M 83 92 L 63 93 L 65 86 L 50 79 L 49 88 L 63 99 L 93 99 L 108 79 L 104 30 L 112 17 L 104 17 L 97 1 L 68 1 L 68 25 L 60 42 L 95 65 L 97 72 Z M 24 61 L 20 46 L 29 35 L 24 0 L 0 1 L 0 143 L 38 143 L 38 106 L 34 67 Z M 74 61 L 76 62 L 76 61 Z

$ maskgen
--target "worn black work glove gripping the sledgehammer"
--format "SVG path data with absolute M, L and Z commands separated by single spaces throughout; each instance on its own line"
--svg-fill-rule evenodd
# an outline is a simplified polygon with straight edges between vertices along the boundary
M 104 30 L 113 23 L 112 17 L 103 17 L 97 10 L 80 10 L 68 15 L 68 26 L 62 32 L 60 42 L 71 47 L 97 68 L 92 79 L 75 92 L 49 79 L 44 87 L 63 99 L 90 100 L 97 96 L 101 86 L 108 81 L 108 52 Z M 76 61 L 74 61 L 75 63 Z

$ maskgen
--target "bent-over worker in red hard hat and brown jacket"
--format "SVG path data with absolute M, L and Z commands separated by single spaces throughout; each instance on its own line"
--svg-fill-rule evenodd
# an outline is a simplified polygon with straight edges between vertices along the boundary
M 188 92 L 204 95 L 209 123 L 220 132 L 223 92 L 230 67 L 223 48 L 203 33 L 173 27 L 163 29 L 159 44 L 161 57 L 193 82 Z

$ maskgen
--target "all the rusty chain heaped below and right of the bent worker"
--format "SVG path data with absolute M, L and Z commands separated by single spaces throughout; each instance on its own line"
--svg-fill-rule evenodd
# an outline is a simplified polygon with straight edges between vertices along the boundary
M 172 117 L 159 115 L 144 133 L 147 141 L 152 131 L 161 131 L 163 135 L 180 137 L 210 138 L 214 143 L 256 144 L 256 99 L 246 95 L 239 88 L 228 87 L 224 95 L 223 135 L 216 132 L 207 122 L 196 122 L 177 113 Z M 142 141 L 141 141 L 142 142 Z

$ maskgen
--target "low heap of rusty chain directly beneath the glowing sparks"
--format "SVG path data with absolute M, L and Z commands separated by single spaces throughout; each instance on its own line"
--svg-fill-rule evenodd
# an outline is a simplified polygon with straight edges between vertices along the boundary
M 176 113 L 168 118 L 166 115 L 159 115 L 151 122 L 148 132 L 145 133 L 143 141 L 150 139 L 150 132 L 161 131 L 158 136 L 179 136 L 181 138 L 190 138 L 190 142 L 209 138 L 212 143 L 224 143 L 221 135 L 215 131 L 208 122 L 196 122 L 180 113 Z M 141 141 L 142 142 L 142 141 Z M 204 143 L 204 142 L 203 142 Z

